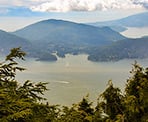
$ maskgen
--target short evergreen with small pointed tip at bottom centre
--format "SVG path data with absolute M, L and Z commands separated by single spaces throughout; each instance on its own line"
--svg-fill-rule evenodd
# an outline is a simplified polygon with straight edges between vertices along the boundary
M 73 104 L 71 108 L 64 107 L 59 122 L 92 122 L 93 115 L 92 103 L 89 103 L 86 96 L 78 104 Z

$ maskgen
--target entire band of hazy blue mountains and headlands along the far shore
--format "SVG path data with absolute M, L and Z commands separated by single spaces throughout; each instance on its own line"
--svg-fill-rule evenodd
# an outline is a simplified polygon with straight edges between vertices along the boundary
M 8 33 L 0 30 L 0 52 L 23 47 L 29 56 L 56 61 L 54 55 L 88 54 L 91 61 L 148 58 L 148 37 L 130 39 L 109 27 L 95 27 L 64 20 L 44 20 Z M 54 53 L 54 54 L 53 54 Z

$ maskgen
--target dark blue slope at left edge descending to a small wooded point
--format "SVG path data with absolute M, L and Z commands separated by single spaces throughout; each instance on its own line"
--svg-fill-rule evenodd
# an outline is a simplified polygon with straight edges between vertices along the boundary
M 10 49 L 21 47 L 27 53 L 28 57 L 34 57 L 37 60 L 56 61 L 56 56 L 34 47 L 27 39 L 18 37 L 11 33 L 0 30 L 0 54 L 7 54 Z

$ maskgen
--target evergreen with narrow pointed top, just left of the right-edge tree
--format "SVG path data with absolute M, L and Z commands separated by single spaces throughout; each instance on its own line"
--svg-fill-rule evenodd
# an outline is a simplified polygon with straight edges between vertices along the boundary
M 115 121 L 116 117 L 123 116 L 123 96 L 119 88 L 115 88 L 110 80 L 107 89 L 100 95 L 98 106 L 101 107 L 106 118 Z

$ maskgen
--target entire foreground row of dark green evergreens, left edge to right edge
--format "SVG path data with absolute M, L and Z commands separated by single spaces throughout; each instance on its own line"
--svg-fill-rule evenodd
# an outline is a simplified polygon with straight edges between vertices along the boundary
M 69 107 L 46 103 L 46 82 L 16 80 L 25 55 L 13 48 L 0 62 L 0 122 L 148 122 L 148 68 L 137 62 L 123 92 L 108 81 L 96 106 L 86 96 Z

